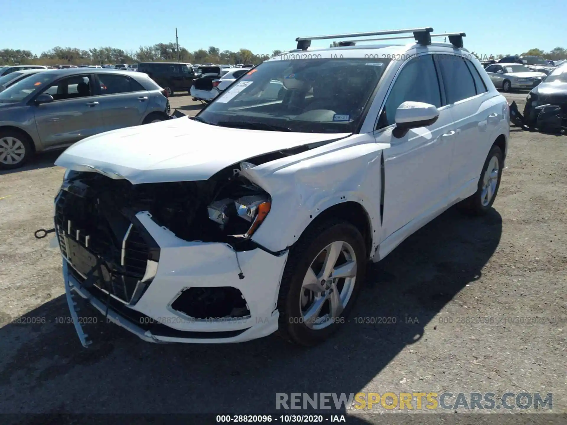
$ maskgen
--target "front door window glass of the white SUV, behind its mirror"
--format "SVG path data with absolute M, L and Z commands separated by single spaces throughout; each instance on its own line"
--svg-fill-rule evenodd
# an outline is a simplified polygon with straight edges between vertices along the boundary
M 394 124 L 396 109 L 405 101 L 441 107 L 441 90 L 431 55 L 413 58 L 401 69 L 380 115 L 378 128 Z

